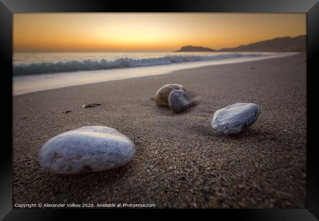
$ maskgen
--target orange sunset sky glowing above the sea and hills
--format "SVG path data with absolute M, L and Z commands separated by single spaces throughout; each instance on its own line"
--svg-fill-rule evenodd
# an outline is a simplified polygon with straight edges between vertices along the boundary
M 14 51 L 171 52 L 306 34 L 306 13 L 15 13 Z

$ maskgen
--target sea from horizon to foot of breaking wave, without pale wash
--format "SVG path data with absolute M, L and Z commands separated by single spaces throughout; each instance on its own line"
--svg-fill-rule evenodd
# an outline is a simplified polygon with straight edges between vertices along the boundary
M 266 53 L 15 53 L 14 76 L 255 57 Z

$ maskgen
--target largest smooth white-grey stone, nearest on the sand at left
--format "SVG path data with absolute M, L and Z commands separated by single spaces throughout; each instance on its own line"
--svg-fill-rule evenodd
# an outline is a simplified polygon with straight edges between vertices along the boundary
M 48 140 L 40 150 L 39 162 L 51 172 L 72 174 L 124 166 L 134 155 L 133 142 L 117 130 L 88 126 Z

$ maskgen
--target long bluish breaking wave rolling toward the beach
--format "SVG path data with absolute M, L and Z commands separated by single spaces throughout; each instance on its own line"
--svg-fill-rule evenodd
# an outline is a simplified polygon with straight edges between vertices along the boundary
M 66 62 L 43 62 L 43 63 L 31 63 L 31 64 L 19 64 L 13 66 L 14 76 L 23 75 L 39 75 L 50 74 L 59 72 L 74 72 L 74 71 L 88 71 L 88 70 L 101 70 L 101 69 L 113 69 L 113 68 L 130 68 L 141 67 L 161 64 L 182 63 L 191 61 L 205 61 L 205 60 L 217 60 L 226 58 L 237 57 L 254 57 L 265 56 L 263 54 L 225 54 L 214 56 L 199 56 L 199 55 L 174 55 L 164 56 L 158 58 L 145 58 L 145 59 L 132 59 L 132 58 L 120 58 L 112 61 L 102 59 L 100 61 L 95 60 L 83 60 L 83 61 L 66 61 Z

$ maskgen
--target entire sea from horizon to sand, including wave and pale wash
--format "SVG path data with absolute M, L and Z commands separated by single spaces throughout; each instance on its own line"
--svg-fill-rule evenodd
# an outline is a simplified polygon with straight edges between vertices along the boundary
M 296 53 L 14 53 L 13 94 Z

